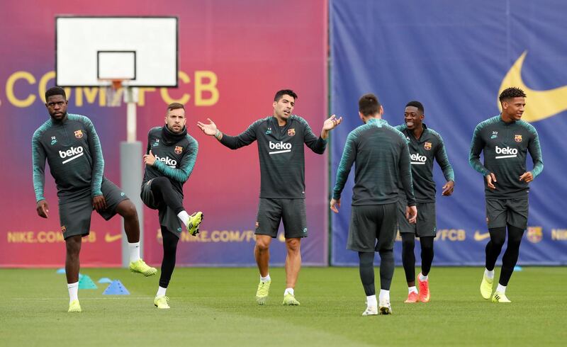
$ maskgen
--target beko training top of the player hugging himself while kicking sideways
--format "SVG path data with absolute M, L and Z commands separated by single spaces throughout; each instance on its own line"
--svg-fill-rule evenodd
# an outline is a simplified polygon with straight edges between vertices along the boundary
M 153 127 L 147 133 L 146 154 L 151 150 L 156 161 L 153 166 L 146 165 L 142 185 L 152 178 L 165 176 L 183 196 L 183 185 L 193 172 L 199 145 L 191 135 L 181 137 L 175 143 L 165 144 L 162 129 L 163 127 Z

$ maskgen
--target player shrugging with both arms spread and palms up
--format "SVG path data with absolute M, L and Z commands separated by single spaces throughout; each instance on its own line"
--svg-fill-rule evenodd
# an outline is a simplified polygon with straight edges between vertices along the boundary
M 323 154 L 329 131 L 342 121 L 332 115 L 325 120 L 320 137 L 311 131 L 308 123 L 293 115 L 297 95 L 289 89 L 278 91 L 274 97 L 273 115 L 257 120 L 245 132 L 237 136 L 223 134 L 215 123 L 198 122 L 206 135 L 230 149 L 258 142 L 260 160 L 260 201 L 256 220 L 256 246 L 254 258 L 260 272 L 256 302 L 264 305 L 268 298 L 271 278 L 269 275 L 269 246 L 283 220 L 286 237 L 286 290 L 283 305 L 299 305 L 293 288 L 301 268 L 301 238 L 307 237 L 305 217 L 305 143 L 313 152 Z

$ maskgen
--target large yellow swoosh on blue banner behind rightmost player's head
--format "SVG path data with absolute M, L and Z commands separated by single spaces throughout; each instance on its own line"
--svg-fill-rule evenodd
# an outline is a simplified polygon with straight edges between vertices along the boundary
M 524 51 L 510 67 L 510 70 L 502 80 L 498 94 L 500 95 L 504 89 L 510 86 L 515 86 L 525 91 L 527 99 L 522 119 L 527 122 L 536 122 L 567 110 L 567 86 L 547 91 L 534 91 L 524 84 L 524 81 L 522 81 L 522 64 L 524 64 L 526 54 L 527 51 Z M 498 101 L 498 108 L 502 110 L 500 101 Z

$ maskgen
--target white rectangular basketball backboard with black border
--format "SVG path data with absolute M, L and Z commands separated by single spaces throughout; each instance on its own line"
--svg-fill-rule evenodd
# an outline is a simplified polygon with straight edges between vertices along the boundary
M 176 17 L 56 16 L 57 86 L 176 87 Z

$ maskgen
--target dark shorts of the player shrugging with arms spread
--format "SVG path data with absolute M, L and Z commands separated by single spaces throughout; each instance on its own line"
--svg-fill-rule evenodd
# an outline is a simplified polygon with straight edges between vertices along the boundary
M 281 220 L 286 239 L 307 237 L 305 199 L 260 198 L 254 234 L 277 237 Z

